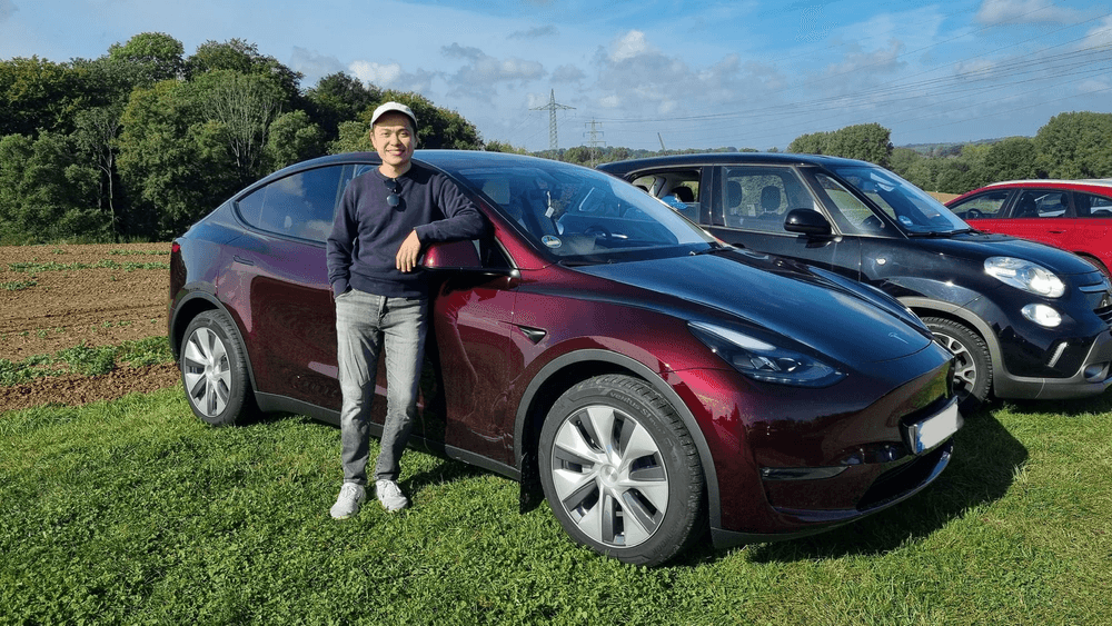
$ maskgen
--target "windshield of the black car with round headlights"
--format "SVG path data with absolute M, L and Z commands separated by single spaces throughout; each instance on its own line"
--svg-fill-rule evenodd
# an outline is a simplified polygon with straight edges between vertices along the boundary
M 909 233 L 933 235 L 970 230 L 970 226 L 929 193 L 892 173 L 867 166 L 832 168 L 844 182 L 867 196 Z

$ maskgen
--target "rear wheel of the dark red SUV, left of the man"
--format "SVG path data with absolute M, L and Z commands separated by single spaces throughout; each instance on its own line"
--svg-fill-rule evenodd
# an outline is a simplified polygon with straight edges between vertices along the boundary
M 186 328 L 178 367 L 193 415 L 232 426 L 255 414 L 255 395 L 239 332 L 228 316 L 205 311 Z

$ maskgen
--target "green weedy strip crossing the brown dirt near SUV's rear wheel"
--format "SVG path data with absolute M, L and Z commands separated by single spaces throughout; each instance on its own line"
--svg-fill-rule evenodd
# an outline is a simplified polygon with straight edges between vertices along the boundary
M 39 332 L 41 335 L 43 330 Z M 173 362 L 170 341 L 165 336 L 123 341 L 119 346 L 91 347 L 81 341 L 53 355 L 36 355 L 18 362 L 0 359 L 0 387 L 43 376 L 99 376 L 123 366 L 143 367 L 162 362 Z

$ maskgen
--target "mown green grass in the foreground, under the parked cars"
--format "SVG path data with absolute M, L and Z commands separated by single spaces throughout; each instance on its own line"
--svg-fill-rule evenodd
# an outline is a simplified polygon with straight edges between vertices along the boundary
M 339 431 L 299 417 L 210 428 L 177 389 L 10 411 L 0 623 L 1109 624 L 1109 408 L 1005 405 L 906 503 L 655 569 L 415 450 L 413 509 L 334 521 Z

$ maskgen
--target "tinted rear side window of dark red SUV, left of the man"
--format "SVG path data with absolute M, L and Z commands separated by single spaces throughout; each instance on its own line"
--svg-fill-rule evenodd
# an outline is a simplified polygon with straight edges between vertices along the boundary
M 251 226 L 312 241 L 325 241 L 332 227 L 332 212 L 350 181 L 350 166 L 317 168 L 287 176 L 237 202 L 239 213 Z

